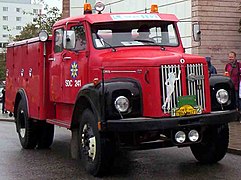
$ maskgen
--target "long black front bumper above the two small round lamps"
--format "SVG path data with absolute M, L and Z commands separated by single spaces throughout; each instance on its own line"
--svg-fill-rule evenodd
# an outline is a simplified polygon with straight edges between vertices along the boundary
M 209 114 L 201 114 L 186 117 L 170 118 L 128 118 L 107 120 L 107 131 L 135 132 L 135 131 L 161 131 L 165 129 L 208 126 L 236 121 L 239 113 L 237 110 L 215 111 Z

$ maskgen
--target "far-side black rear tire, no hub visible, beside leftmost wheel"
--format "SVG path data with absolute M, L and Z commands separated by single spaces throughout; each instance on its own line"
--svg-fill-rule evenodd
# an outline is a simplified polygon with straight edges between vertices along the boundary
M 49 148 L 54 139 L 54 125 L 46 122 L 38 124 L 38 149 Z

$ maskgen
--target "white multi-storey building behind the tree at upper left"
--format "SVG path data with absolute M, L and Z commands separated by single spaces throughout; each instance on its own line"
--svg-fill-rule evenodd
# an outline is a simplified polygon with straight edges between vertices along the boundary
M 0 0 L 0 52 L 41 9 L 42 5 L 31 4 L 31 0 Z

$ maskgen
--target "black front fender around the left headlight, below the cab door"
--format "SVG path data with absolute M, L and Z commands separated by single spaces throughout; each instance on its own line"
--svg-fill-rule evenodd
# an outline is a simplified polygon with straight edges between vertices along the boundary
M 130 102 L 128 111 L 121 115 L 114 106 L 114 101 L 118 96 L 126 96 Z M 78 126 L 80 115 L 86 108 L 90 108 L 97 121 L 101 121 L 102 124 L 109 119 L 142 116 L 141 86 L 137 81 L 127 78 L 106 80 L 96 86 L 93 84 L 83 86 L 75 101 L 71 128 Z

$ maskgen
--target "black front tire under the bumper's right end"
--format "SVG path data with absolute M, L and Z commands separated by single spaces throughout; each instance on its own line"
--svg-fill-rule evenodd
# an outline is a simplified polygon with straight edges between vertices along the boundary
M 225 156 L 229 143 L 228 124 L 209 127 L 204 131 L 202 142 L 191 146 L 195 158 L 203 164 L 213 164 Z

